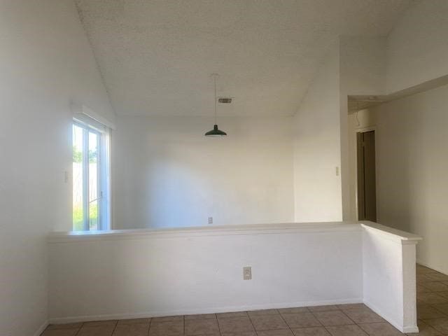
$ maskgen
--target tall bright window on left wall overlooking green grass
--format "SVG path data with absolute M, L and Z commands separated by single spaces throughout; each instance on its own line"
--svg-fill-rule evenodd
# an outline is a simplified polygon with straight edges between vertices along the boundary
M 109 132 L 73 120 L 73 231 L 109 230 Z

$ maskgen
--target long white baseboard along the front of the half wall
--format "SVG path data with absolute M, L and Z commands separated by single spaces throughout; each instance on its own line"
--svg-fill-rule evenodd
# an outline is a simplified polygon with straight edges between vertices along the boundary
M 74 323 L 83 321 L 104 321 L 104 320 L 124 320 L 126 318 L 144 318 L 157 316 L 175 316 L 175 315 L 194 315 L 194 314 L 215 314 L 226 313 L 228 311 L 248 311 L 258 309 L 277 309 L 277 308 L 291 308 L 291 307 L 311 307 L 311 306 L 325 306 L 328 304 L 350 304 L 362 303 L 361 297 L 353 297 L 345 300 L 322 300 L 311 302 L 288 302 L 288 303 L 267 303 L 267 304 L 248 304 L 245 306 L 228 306 L 228 307 L 209 307 L 209 308 L 194 308 L 181 310 L 166 310 L 166 311 L 144 311 L 131 314 L 99 314 L 99 315 L 83 315 L 83 316 L 67 316 L 50 318 L 51 324 L 60 323 Z

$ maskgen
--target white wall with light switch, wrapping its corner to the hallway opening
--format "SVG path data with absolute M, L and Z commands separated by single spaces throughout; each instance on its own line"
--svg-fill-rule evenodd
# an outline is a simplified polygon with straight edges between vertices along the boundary
M 341 36 L 295 115 L 295 221 L 354 219 L 347 96 L 385 83 L 386 38 Z

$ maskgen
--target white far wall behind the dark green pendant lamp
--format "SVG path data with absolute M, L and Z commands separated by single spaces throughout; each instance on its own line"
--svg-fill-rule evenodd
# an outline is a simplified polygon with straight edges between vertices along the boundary
M 291 117 L 123 117 L 113 132 L 113 228 L 293 221 Z

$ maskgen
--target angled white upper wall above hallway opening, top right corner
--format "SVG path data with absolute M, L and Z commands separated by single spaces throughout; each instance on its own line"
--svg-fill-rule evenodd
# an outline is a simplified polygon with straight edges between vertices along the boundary
M 387 92 L 448 75 L 448 1 L 416 1 L 387 40 Z

